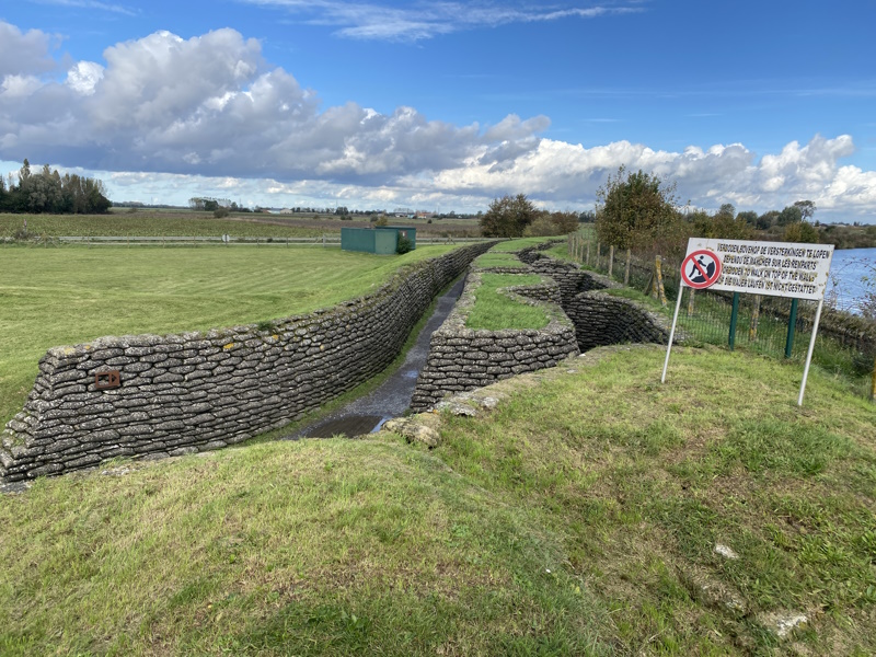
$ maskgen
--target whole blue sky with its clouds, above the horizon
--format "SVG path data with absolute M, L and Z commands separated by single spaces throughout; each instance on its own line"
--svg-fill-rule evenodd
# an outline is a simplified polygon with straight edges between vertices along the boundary
M 115 201 L 876 222 L 874 0 L 0 0 L 0 173 Z

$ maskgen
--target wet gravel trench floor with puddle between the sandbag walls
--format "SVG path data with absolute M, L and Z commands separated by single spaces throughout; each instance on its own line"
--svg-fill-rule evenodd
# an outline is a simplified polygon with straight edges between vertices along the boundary
M 453 310 L 464 287 L 465 277 L 460 276 L 443 295 L 438 297 L 431 316 L 417 335 L 414 345 L 407 350 L 404 362 L 383 383 L 346 406 L 299 428 L 295 434 L 284 436 L 280 440 L 331 438 L 342 435 L 361 436 L 379 430 L 384 422 L 402 415 L 411 405 L 417 376 L 426 365 L 431 334 Z

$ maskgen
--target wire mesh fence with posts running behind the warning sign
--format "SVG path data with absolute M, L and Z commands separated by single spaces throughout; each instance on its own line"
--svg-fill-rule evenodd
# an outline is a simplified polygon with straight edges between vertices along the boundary
M 816 301 L 681 287 L 680 261 L 616 250 L 588 237 L 570 235 L 568 240 L 569 257 L 585 268 L 654 297 L 667 313 L 675 309 L 681 289 L 678 330 L 690 343 L 805 361 L 818 308 Z M 876 322 L 826 308 L 812 362 L 849 379 L 857 392 L 873 400 L 876 396 Z

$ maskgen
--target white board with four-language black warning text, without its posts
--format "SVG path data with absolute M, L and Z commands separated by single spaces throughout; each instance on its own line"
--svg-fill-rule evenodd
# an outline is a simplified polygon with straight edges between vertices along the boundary
M 700 272 L 692 269 L 689 261 L 693 254 L 703 252 L 721 263 L 715 274 L 717 280 L 710 285 L 692 285 L 699 280 Z M 684 285 L 696 289 L 711 287 L 728 292 L 818 301 L 825 298 L 832 260 L 833 244 L 691 238 L 681 276 Z

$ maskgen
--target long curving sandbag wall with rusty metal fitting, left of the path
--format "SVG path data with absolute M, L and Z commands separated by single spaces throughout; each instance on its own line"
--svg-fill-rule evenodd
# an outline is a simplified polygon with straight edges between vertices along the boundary
M 217 449 L 298 419 L 385 368 L 435 295 L 492 244 L 411 265 L 367 297 L 266 331 L 251 324 L 49 349 L 2 435 L 0 482 Z M 119 385 L 99 389 L 95 377 L 112 385 L 112 371 Z

